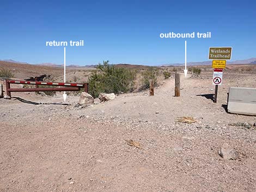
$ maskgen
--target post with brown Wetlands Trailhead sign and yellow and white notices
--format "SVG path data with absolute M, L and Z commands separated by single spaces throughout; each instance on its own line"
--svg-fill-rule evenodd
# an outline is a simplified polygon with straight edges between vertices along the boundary
M 217 102 L 218 85 L 222 85 L 223 69 L 226 67 L 226 60 L 231 59 L 232 47 L 210 47 L 209 59 L 212 60 L 212 68 L 214 68 L 214 77 L 212 84 L 215 85 L 214 102 Z M 225 60 L 223 60 L 225 59 Z

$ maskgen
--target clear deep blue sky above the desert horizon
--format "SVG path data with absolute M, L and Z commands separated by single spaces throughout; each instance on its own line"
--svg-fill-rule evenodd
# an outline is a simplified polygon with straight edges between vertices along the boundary
M 232 60 L 256 57 L 254 1 L 2 1 L 0 59 L 63 64 L 161 65 L 208 60 L 210 46 L 233 47 Z M 160 33 L 211 32 L 211 39 L 161 39 Z

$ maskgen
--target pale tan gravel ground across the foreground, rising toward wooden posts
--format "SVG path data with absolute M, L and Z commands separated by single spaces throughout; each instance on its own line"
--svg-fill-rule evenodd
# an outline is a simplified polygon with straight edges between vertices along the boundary
M 87 108 L 75 107 L 76 96 L 0 99 L 0 191 L 255 191 L 256 129 L 230 124 L 256 117 L 225 111 L 228 88 L 255 86 L 255 75 L 224 75 L 217 103 L 210 72 L 182 78 L 180 97 L 170 78 L 155 96 L 123 94 Z M 218 155 L 223 143 L 236 160 Z

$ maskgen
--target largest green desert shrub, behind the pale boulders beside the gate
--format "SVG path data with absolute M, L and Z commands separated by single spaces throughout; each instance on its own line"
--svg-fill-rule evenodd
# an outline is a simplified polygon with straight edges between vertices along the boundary
M 99 96 L 100 92 L 120 94 L 133 90 L 135 72 L 129 69 L 109 65 L 107 61 L 99 63 L 98 71 L 89 77 L 89 94 Z

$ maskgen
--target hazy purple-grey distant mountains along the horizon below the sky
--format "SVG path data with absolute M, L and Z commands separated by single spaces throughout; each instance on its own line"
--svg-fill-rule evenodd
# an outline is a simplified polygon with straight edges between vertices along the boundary
M 15 61 L 15 60 L 0 60 L 0 61 L 5 61 L 5 62 L 11 62 L 11 63 L 17 63 L 17 64 L 29 64 L 26 62 L 20 62 L 20 61 Z M 200 61 L 200 62 L 188 62 L 188 66 L 194 66 L 194 65 L 211 65 L 212 61 Z M 244 60 L 236 60 L 236 61 L 227 61 L 227 64 L 256 64 L 256 58 L 250 58 L 250 59 L 244 59 Z M 64 65 L 59 65 L 59 64 L 53 64 L 53 63 L 41 63 L 41 64 L 35 64 L 35 65 L 42 65 L 42 66 L 52 66 L 52 67 L 63 67 Z M 117 65 L 131 65 L 131 64 L 117 64 Z M 132 64 L 136 65 L 136 64 Z M 161 66 L 182 66 L 185 65 L 184 63 L 174 63 L 174 64 L 164 64 Z M 66 67 L 96 67 L 97 65 L 66 65 Z M 160 65 L 159 65 L 160 66 Z

